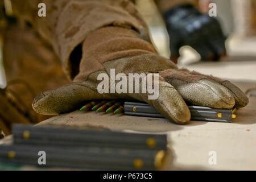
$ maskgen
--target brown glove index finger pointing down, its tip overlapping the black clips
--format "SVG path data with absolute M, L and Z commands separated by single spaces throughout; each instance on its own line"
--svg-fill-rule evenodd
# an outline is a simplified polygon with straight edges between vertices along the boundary
M 155 99 L 150 100 L 149 96 L 151 94 L 148 92 L 145 94 L 129 94 L 129 96 L 135 100 L 147 102 L 151 106 L 154 106 L 159 113 L 163 114 L 170 121 L 180 125 L 188 123 L 191 119 L 191 114 L 187 104 L 177 90 L 161 77 L 159 78 L 158 85 L 158 97 Z

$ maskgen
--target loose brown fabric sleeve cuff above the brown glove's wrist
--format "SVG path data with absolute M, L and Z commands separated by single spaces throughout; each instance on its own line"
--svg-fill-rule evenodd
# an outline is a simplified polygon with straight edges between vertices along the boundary
M 104 26 L 130 27 L 146 32 L 146 24 L 134 3 L 127 0 L 11 0 L 14 15 L 32 23 L 51 43 L 71 77 L 71 53 L 86 36 Z M 39 3 L 46 5 L 46 17 L 39 17 Z

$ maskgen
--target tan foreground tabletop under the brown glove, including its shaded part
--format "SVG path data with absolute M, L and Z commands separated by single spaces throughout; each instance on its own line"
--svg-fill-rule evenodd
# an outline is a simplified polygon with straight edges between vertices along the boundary
M 255 87 L 253 82 L 236 85 L 244 91 Z M 164 169 L 256 170 L 256 97 L 249 99 L 249 105 L 237 111 L 232 123 L 191 121 L 180 126 L 162 118 L 74 111 L 40 125 L 89 125 L 118 131 L 167 133 L 169 152 Z M 212 151 L 214 156 L 210 156 Z M 210 164 L 209 159 L 215 156 L 216 163 Z

